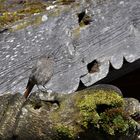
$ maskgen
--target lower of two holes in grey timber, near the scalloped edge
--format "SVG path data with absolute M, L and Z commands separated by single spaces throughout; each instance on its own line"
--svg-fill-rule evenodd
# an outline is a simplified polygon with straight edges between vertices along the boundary
M 87 65 L 89 73 L 99 72 L 100 63 L 97 60 L 92 61 Z

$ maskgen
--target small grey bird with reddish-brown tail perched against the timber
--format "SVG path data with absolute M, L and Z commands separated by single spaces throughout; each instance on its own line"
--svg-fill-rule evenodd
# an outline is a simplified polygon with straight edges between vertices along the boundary
M 38 59 L 36 64 L 32 68 L 32 72 L 29 76 L 29 80 L 24 92 L 24 97 L 28 98 L 30 92 L 35 85 L 45 84 L 51 79 L 54 69 L 54 59 L 50 56 L 42 56 Z

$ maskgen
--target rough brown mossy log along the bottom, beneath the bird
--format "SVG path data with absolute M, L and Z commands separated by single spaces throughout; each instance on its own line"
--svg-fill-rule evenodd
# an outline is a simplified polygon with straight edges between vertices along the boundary
M 19 93 L 0 96 L 0 139 L 137 140 L 140 135 L 140 119 L 130 116 L 140 112 L 139 101 L 124 102 L 114 87 L 58 94 L 57 102 L 40 100 L 42 94 L 26 101 Z

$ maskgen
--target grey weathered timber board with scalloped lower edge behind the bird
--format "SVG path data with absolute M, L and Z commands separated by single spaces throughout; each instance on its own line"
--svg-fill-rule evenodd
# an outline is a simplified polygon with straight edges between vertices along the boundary
M 124 58 L 140 58 L 139 0 L 76 0 L 54 7 L 42 15 L 42 24 L 0 34 L 0 93 L 23 92 L 44 54 L 55 58 L 46 88 L 61 93 L 75 91 L 80 80 L 90 86 L 106 77 L 110 63 L 119 69 Z M 80 26 L 78 14 L 84 11 L 91 22 Z M 87 65 L 94 60 L 98 71 L 91 73 Z

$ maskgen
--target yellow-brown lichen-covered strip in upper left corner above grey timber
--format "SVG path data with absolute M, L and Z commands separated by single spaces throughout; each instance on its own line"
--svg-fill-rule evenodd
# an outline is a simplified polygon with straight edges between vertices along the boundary
M 8 28 L 9 25 L 27 17 L 31 18 L 34 14 L 40 14 L 46 11 L 46 7 L 50 5 L 50 2 L 40 0 L 19 0 L 13 2 L 11 5 L 5 4 L 5 2 L 6 1 L 0 2 L 0 29 Z

